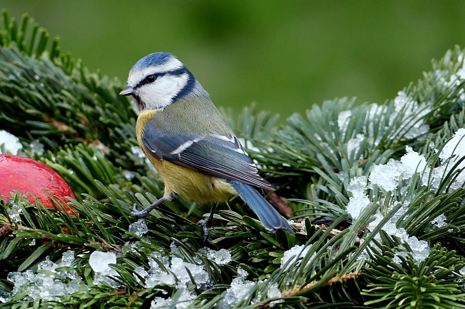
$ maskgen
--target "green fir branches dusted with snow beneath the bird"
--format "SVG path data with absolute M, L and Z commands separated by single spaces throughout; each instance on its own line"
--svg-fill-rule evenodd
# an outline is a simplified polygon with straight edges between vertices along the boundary
M 222 110 L 288 198 L 295 236 L 270 234 L 233 198 L 203 244 L 195 221 L 208 205 L 177 197 L 145 222 L 130 215 L 163 195 L 137 146 L 137 113 L 118 80 L 89 73 L 48 37 L 27 15 L 18 26 L 3 12 L 0 129 L 67 181 L 75 215 L 53 197 L 56 209 L 18 192 L 1 202 L 0 308 L 465 308 L 460 48 L 381 105 L 335 99 L 283 126 L 253 105 L 239 117 Z M 106 274 L 89 262 L 97 250 L 116 253 Z

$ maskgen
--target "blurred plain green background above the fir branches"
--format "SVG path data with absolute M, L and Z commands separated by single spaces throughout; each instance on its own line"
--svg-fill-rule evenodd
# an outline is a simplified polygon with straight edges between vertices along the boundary
M 91 71 L 125 81 L 168 51 L 217 105 L 256 102 L 287 117 L 334 97 L 383 103 L 455 44 L 465 1 L 1 0 L 61 36 Z

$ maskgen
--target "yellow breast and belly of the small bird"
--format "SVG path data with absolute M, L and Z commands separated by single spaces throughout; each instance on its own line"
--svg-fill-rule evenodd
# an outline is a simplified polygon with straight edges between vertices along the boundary
M 137 118 L 136 134 L 140 148 L 165 182 L 165 196 L 169 198 L 173 193 L 178 193 L 186 198 L 202 203 L 226 201 L 232 195 L 237 195 L 237 191 L 221 178 L 210 176 L 167 160 L 157 160 L 148 153 L 142 144 L 142 136 L 145 131 L 145 125 L 152 119 L 155 113 L 155 110 L 140 113 L 139 118 Z

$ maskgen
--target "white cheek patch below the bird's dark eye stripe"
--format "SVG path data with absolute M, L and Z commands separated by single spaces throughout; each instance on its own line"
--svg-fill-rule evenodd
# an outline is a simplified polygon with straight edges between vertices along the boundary
M 136 90 L 136 95 L 146 104 L 148 109 L 165 108 L 171 99 L 186 86 L 189 75 L 166 74 L 158 77 L 152 84 L 144 85 Z

